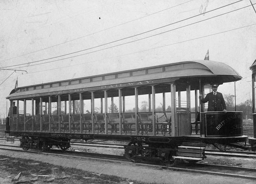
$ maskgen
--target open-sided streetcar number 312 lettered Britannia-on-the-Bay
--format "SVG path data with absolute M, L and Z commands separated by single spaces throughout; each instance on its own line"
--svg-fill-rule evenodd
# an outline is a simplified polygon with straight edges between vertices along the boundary
M 242 77 L 215 61 L 186 61 L 19 87 L 6 132 L 24 150 L 67 149 L 70 139 L 126 141 L 127 158 L 201 160 L 205 144 L 246 142 L 242 112 L 205 112 L 212 83 Z

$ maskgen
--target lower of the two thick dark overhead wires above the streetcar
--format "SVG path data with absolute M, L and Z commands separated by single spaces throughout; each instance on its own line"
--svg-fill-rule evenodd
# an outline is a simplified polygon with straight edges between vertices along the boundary
M 249 5 L 249 6 L 251 6 L 251 5 Z M 224 15 L 224 14 L 228 14 L 228 13 L 231 13 L 231 12 L 234 12 L 234 11 L 237 11 L 237 10 L 241 10 L 241 9 L 246 8 L 246 7 L 249 7 L 249 6 L 245 6 L 245 7 L 242 7 L 242 8 L 238 8 L 238 9 L 235 9 L 235 10 L 232 10 L 232 11 L 229 11 L 229 12 L 226 12 L 226 13 L 222 13 L 222 14 L 219 14 L 219 15 L 216 15 L 216 16 L 213 16 L 213 17 L 210 17 L 210 18 L 201 20 L 201 21 L 197 21 L 197 22 L 194 22 L 194 23 L 185 25 L 185 26 L 181 26 L 181 27 L 178 27 L 178 28 L 174 28 L 174 29 L 171 29 L 171 30 L 168 30 L 168 31 L 165 31 L 165 32 L 162 32 L 162 33 L 158 33 L 158 34 L 155 34 L 155 35 L 151 35 L 151 36 L 148 36 L 148 37 L 145 37 L 145 38 L 141 38 L 141 39 L 138 39 L 138 40 L 133 40 L 133 41 L 130 41 L 130 42 L 126 42 L 126 43 L 114 45 L 114 46 L 111 46 L 111 47 L 107 47 L 107 48 L 95 50 L 95 51 L 92 51 L 92 52 L 87 52 L 87 53 L 84 53 L 84 54 L 79 54 L 79 55 L 72 56 L 72 57 L 68 57 L 68 58 L 62 58 L 62 59 L 58 59 L 58 60 L 53 60 L 53 61 L 44 62 L 44 63 L 39 63 L 39 64 L 34 64 L 34 65 L 29 65 L 29 66 L 15 67 L 15 68 L 12 68 L 12 69 L 24 68 L 24 67 L 30 67 L 30 66 L 36 66 L 36 65 L 46 64 L 46 63 L 52 63 L 52 62 L 56 62 L 56 61 L 60 61 L 60 60 L 65 60 L 65 59 L 70 59 L 70 58 L 74 58 L 74 57 L 78 57 L 78 56 L 83 56 L 83 55 L 86 55 L 86 54 L 89 54 L 89 53 L 98 52 L 98 51 L 101 51 L 101 50 L 113 48 L 113 47 L 120 46 L 120 45 L 124 45 L 124 44 L 128 44 L 128 43 L 132 43 L 132 42 L 135 42 L 135 41 L 139 41 L 139 40 L 143 40 L 143 39 L 146 39 L 146 38 L 149 38 L 149 37 L 153 37 L 153 36 L 156 36 L 156 35 L 160 35 L 160 34 L 163 34 L 163 33 L 167 33 L 167 32 L 173 31 L 173 30 L 177 30 L 177 29 L 180 29 L 180 28 L 184 28 L 184 27 L 187 27 L 187 26 L 190 26 L 190 25 L 193 25 L 193 24 L 197 24 L 197 23 L 200 23 L 200 22 L 203 22 L 203 21 L 206 21 L 206 20 L 210 20 L 210 19 L 213 19 L 213 18 L 215 18 L 215 17 L 221 16 L 221 15 Z M 136 52 L 135 52 L 135 53 L 136 53 Z M 1 68 L 0 68 L 0 69 L 1 69 Z

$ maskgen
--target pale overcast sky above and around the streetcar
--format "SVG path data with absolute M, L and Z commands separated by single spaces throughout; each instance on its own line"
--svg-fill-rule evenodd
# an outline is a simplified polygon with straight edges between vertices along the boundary
M 251 99 L 256 0 L 237 1 L 0 1 L 0 115 L 6 116 L 5 98 L 17 77 L 22 87 L 203 60 L 208 49 L 210 60 L 243 77 L 237 104 Z M 234 94 L 234 82 L 218 91 Z

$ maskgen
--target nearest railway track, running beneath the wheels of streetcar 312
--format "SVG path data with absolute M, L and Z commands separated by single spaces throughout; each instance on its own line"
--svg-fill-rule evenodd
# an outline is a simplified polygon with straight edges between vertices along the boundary
M 24 151 L 21 150 L 19 146 L 12 145 L 0 145 L 0 150 L 8 150 L 8 151 L 18 151 L 22 153 L 31 153 L 31 154 L 44 154 L 44 155 L 54 155 L 54 156 L 65 156 L 70 158 L 79 158 L 79 159 L 91 159 L 98 161 L 108 161 L 120 164 L 128 164 L 143 167 L 150 167 L 156 169 L 167 169 L 174 171 L 182 171 L 182 172 L 193 172 L 193 173 L 202 173 L 202 174 L 212 174 L 219 176 L 227 176 L 227 177 L 236 177 L 243 179 L 251 179 L 256 180 L 256 169 L 254 168 L 243 168 L 243 167 L 234 167 L 234 166 L 226 166 L 226 165 L 214 165 L 214 164 L 205 164 L 205 163 L 186 163 L 179 162 L 175 165 L 175 167 L 166 167 L 159 164 L 148 164 L 148 163 L 133 163 L 127 161 L 124 156 L 119 155 L 109 155 L 109 154 L 99 154 L 99 153 L 88 153 L 88 152 L 77 152 L 77 151 L 62 151 L 62 150 L 54 150 L 51 149 L 51 152 L 42 153 L 36 150 Z M 239 173 L 239 174 L 233 174 Z

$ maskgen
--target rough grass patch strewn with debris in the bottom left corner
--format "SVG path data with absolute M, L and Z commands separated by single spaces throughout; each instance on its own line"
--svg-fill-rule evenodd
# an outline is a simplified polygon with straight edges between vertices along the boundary
M 30 183 L 30 181 L 36 177 L 37 182 L 45 183 L 127 184 L 129 182 L 133 182 L 133 184 L 146 184 L 144 182 L 136 182 L 131 180 L 128 181 L 127 179 L 113 175 L 90 173 L 80 169 L 66 168 L 50 163 L 29 159 L 12 158 L 4 155 L 0 155 L 0 170 L 4 171 L 1 177 L 6 178 L 9 176 L 9 181 L 13 180 L 10 176 L 15 177 L 21 172 L 21 176 L 18 181 L 28 181 L 28 183 Z M 33 176 L 32 174 L 48 176 Z

